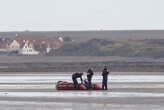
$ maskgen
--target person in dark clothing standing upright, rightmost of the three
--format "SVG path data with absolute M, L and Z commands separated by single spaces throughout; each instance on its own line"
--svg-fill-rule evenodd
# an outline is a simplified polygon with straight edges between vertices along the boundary
M 108 90 L 108 87 L 107 87 L 108 74 L 109 74 L 109 71 L 107 70 L 107 66 L 104 66 L 104 69 L 102 71 L 102 76 L 103 76 L 102 90 Z

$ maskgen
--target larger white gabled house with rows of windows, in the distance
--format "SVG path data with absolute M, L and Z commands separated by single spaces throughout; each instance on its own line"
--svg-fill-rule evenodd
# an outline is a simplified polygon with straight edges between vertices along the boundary
M 36 51 L 34 49 L 34 46 L 32 43 L 29 43 L 28 41 L 25 41 L 25 43 L 22 45 L 19 53 L 21 55 L 38 55 L 40 52 Z

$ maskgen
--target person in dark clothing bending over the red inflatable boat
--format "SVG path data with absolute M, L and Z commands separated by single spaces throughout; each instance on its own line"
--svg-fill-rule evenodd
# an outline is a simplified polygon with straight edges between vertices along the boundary
M 81 84 L 83 83 L 82 75 L 83 75 L 82 72 L 72 74 L 72 80 L 73 80 L 73 84 L 74 84 L 75 89 L 78 89 L 78 85 L 79 85 L 78 82 L 77 82 L 77 78 L 81 79 Z

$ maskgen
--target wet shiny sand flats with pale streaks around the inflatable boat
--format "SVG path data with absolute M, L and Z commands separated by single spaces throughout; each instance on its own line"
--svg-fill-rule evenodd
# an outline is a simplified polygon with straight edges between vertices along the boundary
M 129 73 L 130 74 L 130 73 Z M 134 77 L 133 77 L 134 76 Z M 163 110 L 163 75 L 111 75 L 107 91 L 57 91 L 68 74 L 0 75 L 1 110 Z M 101 85 L 101 77 L 95 76 Z

